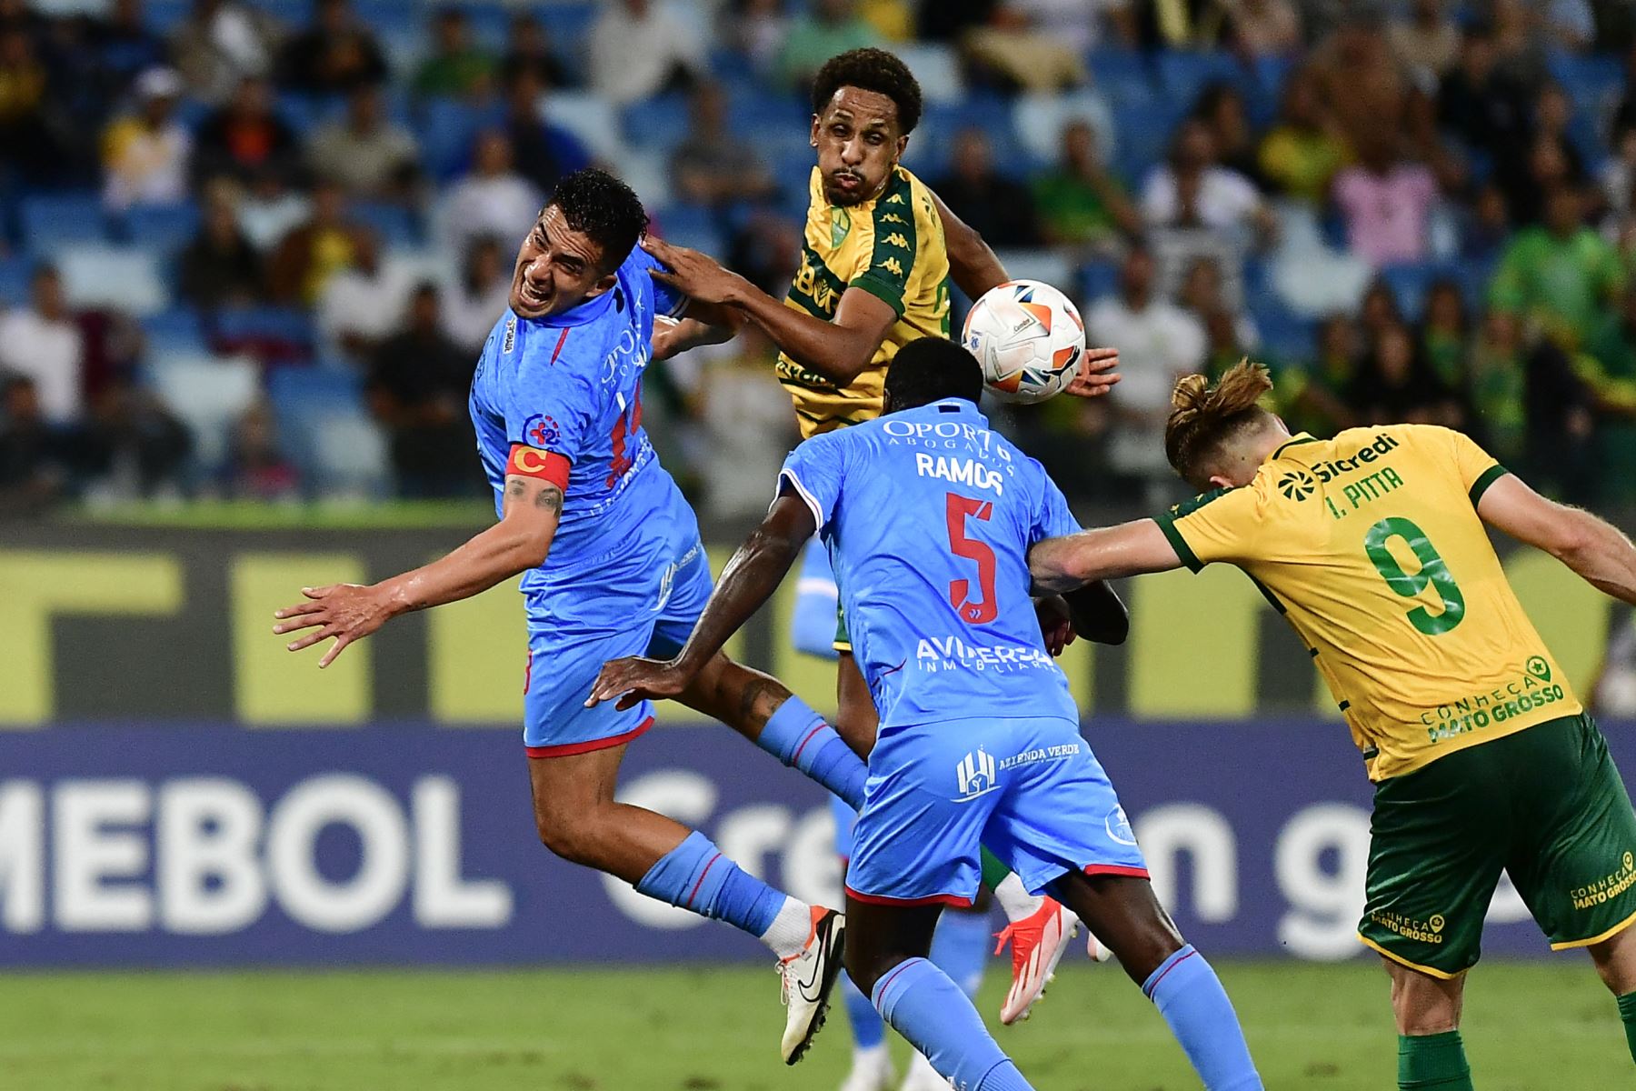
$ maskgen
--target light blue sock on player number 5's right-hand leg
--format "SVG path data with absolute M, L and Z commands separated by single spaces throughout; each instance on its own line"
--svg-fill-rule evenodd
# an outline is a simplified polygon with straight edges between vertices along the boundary
M 1238 1014 L 1216 970 L 1188 944 L 1142 983 L 1142 993 L 1165 1016 L 1206 1091 L 1260 1091 Z

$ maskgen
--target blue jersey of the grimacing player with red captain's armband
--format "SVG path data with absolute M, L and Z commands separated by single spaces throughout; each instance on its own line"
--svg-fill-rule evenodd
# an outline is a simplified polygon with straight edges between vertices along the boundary
M 638 553 L 656 533 L 653 514 L 682 502 L 641 427 L 653 319 L 682 304 L 648 275 L 658 267 L 636 247 L 609 291 L 545 319 L 507 311 L 483 347 L 471 424 L 496 512 L 507 469 L 556 479 L 566 468 L 556 538 L 545 564 L 524 576 L 525 594 Z

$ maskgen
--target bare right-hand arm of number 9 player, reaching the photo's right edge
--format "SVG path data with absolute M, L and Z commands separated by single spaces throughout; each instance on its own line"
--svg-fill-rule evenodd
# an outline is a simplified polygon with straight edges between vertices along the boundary
M 1613 523 L 1548 501 L 1521 478 L 1505 474 L 1477 499 L 1482 522 L 1544 550 L 1587 584 L 1636 605 L 1636 546 Z

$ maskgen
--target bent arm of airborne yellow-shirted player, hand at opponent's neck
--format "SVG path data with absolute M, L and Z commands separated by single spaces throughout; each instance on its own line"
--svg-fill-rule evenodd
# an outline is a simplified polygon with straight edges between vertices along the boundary
M 726 270 L 715 258 L 645 237 L 641 249 L 663 262 L 666 270 L 649 270 L 654 280 L 671 285 L 689 299 L 721 304 L 754 322 L 790 360 L 826 379 L 847 384 L 874 358 L 897 311 L 862 288 L 841 293 L 834 319 L 825 321 L 784 306 L 761 288 Z

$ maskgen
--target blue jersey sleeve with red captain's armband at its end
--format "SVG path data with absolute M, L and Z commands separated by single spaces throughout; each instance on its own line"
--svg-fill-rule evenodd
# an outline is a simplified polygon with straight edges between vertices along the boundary
M 573 330 L 543 330 L 524 348 L 506 396 L 507 474 L 540 478 L 568 489 L 594 414 L 589 384 L 571 365 Z

